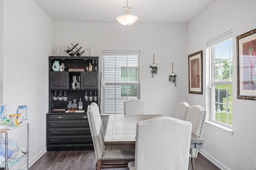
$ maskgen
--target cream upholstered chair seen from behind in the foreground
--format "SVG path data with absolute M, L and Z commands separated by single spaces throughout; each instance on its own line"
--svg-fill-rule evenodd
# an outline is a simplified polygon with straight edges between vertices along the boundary
M 191 128 L 190 122 L 174 117 L 139 121 L 129 170 L 187 170 Z

